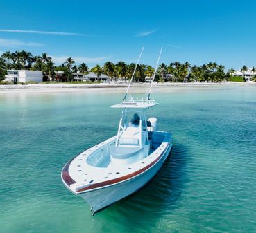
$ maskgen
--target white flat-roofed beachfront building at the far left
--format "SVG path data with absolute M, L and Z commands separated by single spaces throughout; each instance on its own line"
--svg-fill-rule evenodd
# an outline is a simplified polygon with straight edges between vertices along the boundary
M 42 82 L 42 71 L 26 71 L 26 70 L 8 70 L 6 79 L 7 82 Z

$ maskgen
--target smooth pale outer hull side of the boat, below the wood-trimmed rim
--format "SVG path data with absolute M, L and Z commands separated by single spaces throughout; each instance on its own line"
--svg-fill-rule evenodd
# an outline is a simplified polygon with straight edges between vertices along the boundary
M 164 149 L 160 155 L 160 159 L 137 176 L 123 180 L 120 183 L 115 183 L 113 185 L 80 193 L 78 196 L 85 199 L 85 201 L 91 206 L 92 213 L 94 214 L 108 205 L 111 205 L 112 203 L 133 194 L 138 189 L 146 185 L 146 183 L 148 183 L 148 181 L 151 180 L 155 174 L 157 174 L 157 171 L 160 170 L 164 161 L 167 159 L 167 156 L 171 151 L 171 147 L 172 144 L 169 142 L 167 148 Z

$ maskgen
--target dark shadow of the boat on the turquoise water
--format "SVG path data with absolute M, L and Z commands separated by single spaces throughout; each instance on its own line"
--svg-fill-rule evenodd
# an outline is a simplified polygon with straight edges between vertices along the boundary
M 188 149 L 185 145 L 173 143 L 169 157 L 156 176 L 142 189 L 123 200 L 114 203 L 96 216 L 122 216 L 133 224 L 140 224 L 137 216 L 144 216 L 147 222 L 155 222 L 162 214 L 167 214 L 179 205 L 179 199 L 188 182 L 187 163 Z M 107 216 L 105 216 L 107 217 Z M 108 218 L 108 217 L 107 217 Z

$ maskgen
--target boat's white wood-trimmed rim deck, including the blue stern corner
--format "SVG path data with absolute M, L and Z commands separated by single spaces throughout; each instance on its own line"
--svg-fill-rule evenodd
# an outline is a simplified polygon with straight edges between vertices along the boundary
M 89 165 L 88 160 L 92 157 L 90 155 L 97 153 L 97 151 L 100 151 L 104 147 L 108 147 L 108 145 L 112 145 L 116 137 L 109 138 L 83 151 L 74 159 L 70 160 L 62 169 L 62 180 L 74 194 L 79 194 L 89 189 L 96 189 L 103 185 L 112 185 L 113 183 L 137 176 L 157 162 L 167 149 L 169 143 L 171 143 L 171 133 L 157 131 L 154 133 L 151 153 L 146 158 L 126 167 L 112 167 L 111 164 L 107 164 L 108 166 L 101 165 L 101 167 Z M 157 143 L 157 140 L 154 142 L 154 138 L 157 137 L 164 137 L 162 143 Z

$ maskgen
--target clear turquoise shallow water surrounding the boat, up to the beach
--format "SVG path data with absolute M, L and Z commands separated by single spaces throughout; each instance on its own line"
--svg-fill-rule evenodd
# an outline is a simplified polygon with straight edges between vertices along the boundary
M 92 217 L 62 185 L 78 152 L 113 136 L 119 91 L 0 94 L 0 232 L 255 232 L 256 86 L 166 88 L 148 111 L 173 151 L 136 194 Z

